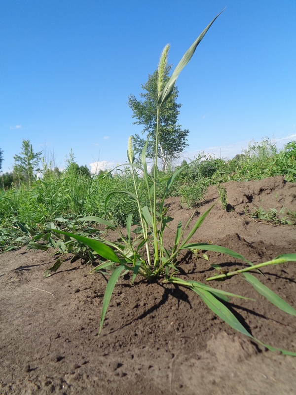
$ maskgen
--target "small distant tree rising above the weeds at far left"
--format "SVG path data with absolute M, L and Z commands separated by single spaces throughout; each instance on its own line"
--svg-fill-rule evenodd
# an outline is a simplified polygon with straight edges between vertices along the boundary
M 34 153 L 30 140 L 23 140 L 22 151 L 20 155 L 15 155 L 13 172 L 17 175 L 19 181 L 22 177 L 31 187 L 34 180 L 34 173 L 39 171 L 38 164 L 40 162 L 42 151 Z

